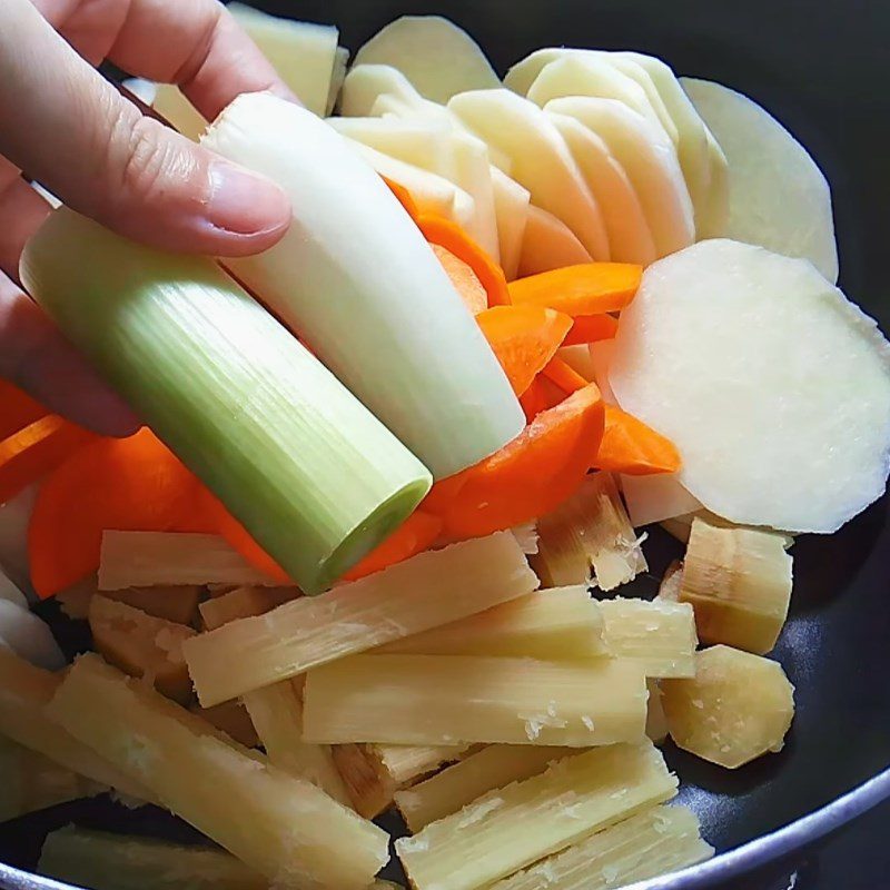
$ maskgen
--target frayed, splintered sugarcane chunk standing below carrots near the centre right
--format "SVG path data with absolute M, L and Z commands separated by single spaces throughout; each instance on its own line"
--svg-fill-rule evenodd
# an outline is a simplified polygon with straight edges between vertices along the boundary
M 624 512 L 615 481 L 595 473 L 537 523 L 535 571 L 548 586 L 586 584 L 611 591 L 646 571 L 641 542 Z

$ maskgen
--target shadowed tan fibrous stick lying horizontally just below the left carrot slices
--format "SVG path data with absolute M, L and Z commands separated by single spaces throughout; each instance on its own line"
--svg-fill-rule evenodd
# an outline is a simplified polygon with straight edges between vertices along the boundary
M 259 584 L 275 580 L 249 565 L 218 535 L 105 532 L 99 590 L 177 584 Z

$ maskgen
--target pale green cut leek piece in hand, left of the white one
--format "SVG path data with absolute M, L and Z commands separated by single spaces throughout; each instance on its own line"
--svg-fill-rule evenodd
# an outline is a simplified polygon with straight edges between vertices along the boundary
M 423 465 L 209 259 L 61 209 L 27 245 L 21 275 L 304 590 L 339 577 L 426 493 Z

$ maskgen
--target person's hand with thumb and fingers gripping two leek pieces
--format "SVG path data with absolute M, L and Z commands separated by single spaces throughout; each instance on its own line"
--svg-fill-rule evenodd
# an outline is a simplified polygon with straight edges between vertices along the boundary
M 179 85 L 205 118 L 241 92 L 295 99 L 217 0 L 0 0 L 0 377 L 107 435 L 139 419 L 18 281 L 50 212 L 26 177 L 135 240 L 208 256 L 274 245 L 285 195 L 142 112 L 95 66 Z

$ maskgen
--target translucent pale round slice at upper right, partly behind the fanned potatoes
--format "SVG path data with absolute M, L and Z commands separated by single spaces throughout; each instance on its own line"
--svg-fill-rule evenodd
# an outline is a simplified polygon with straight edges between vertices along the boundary
M 809 259 L 837 281 L 831 190 L 807 149 L 740 92 L 708 80 L 681 83 L 729 160 L 725 236 Z

